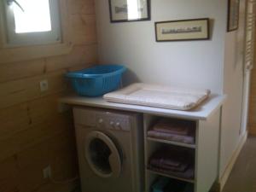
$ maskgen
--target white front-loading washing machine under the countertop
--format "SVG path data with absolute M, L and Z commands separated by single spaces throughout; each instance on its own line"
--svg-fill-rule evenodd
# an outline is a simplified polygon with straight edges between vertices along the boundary
M 73 108 L 82 192 L 143 192 L 139 113 Z

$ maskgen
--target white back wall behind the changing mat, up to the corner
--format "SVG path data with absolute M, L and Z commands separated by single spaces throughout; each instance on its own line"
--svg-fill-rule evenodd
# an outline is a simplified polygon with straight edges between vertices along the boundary
M 222 0 L 152 0 L 152 20 L 111 24 L 108 0 L 96 0 L 99 59 L 123 63 L 126 83 L 157 84 L 223 90 L 224 31 Z M 208 17 L 212 40 L 156 43 L 154 21 Z

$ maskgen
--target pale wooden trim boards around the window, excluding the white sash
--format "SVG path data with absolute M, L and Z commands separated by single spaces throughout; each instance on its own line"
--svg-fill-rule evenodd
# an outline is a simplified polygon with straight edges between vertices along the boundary
M 10 46 L 8 42 L 4 4 L 0 0 L 0 65 L 15 61 L 29 61 L 55 55 L 66 55 L 73 49 L 70 41 L 70 24 L 67 15 L 67 0 L 56 0 L 59 3 L 61 41 L 55 44 L 32 44 Z

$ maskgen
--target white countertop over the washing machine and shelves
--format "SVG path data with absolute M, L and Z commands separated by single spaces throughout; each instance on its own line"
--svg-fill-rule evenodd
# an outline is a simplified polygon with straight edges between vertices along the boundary
M 63 96 L 60 99 L 61 104 L 94 107 L 94 108 L 110 108 L 123 111 L 154 114 L 165 117 L 175 117 L 183 119 L 199 119 L 206 120 L 211 116 L 218 108 L 220 108 L 225 100 L 226 96 L 211 95 L 205 102 L 199 107 L 189 111 L 179 111 L 165 108 L 151 108 L 138 105 L 120 104 L 114 102 L 106 102 L 102 97 L 84 97 L 84 96 Z

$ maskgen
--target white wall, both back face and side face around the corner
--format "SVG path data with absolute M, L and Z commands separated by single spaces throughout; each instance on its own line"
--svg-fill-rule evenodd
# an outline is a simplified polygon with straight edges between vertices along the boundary
M 226 33 L 227 0 L 151 2 L 151 21 L 111 24 L 108 0 L 96 0 L 100 62 L 125 64 L 130 69 L 126 83 L 143 81 L 202 87 L 228 94 L 221 138 L 220 171 L 223 173 L 241 137 L 241 63 L 236 62 L 237 34 Z M 202 17 L 212 19 L 211 40 L 155 42 L 154 21 Z

